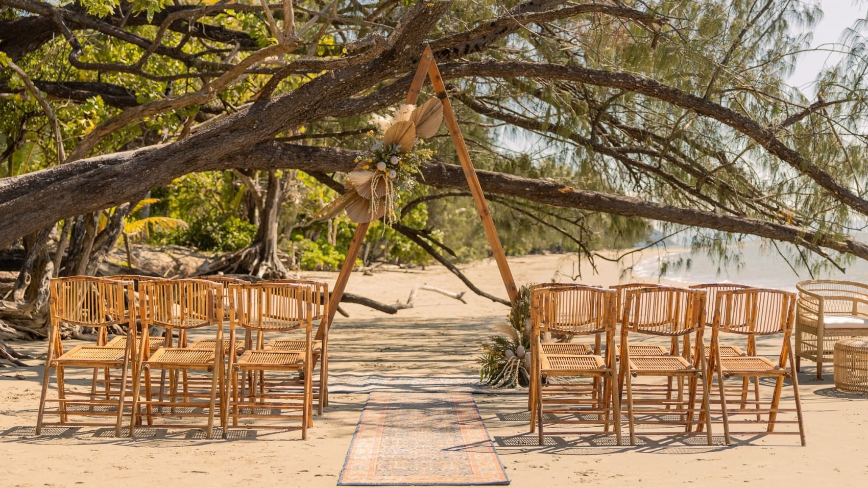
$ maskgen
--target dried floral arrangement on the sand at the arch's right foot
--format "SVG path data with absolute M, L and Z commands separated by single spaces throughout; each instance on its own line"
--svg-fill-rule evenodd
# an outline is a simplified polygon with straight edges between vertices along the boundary
M 528 386 L 530 379 L 530 287 L 518 289 L 503 334 L 479 343 L 479 380 L 495 388 Z

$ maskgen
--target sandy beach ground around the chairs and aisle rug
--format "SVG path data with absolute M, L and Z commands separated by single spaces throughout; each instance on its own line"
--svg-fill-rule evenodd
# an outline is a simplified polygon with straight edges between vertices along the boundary
M 575 255 L 510 259 L 516 283 L 567 281 L 578 274 Z M 505 296 L 493 260 L 463 268 L 484 291 Z M 630 280 L 615 264 L 597 260 L 597 273 L 582 267 L 580 282 L 613 285 Z M 334 273 L 306 273 L 333 283 Z M 354 273 L 348 291 L 381 300 L 407 300 L 429 284 L 466 289 L 443 267 Z M 477 375 L 477 341 L 496 333 L 508 308 L 471 292 L 467 303 L 420 291 L 415 307 L 386 315 L 345 305 L 349 318 L 332 326 L 332 375 L 368 374 L 437 378 Z M 67 341 L 66 345 L 76 341 Z M 44 354 L 44 342 L 14 343 Z M 760 351 L 762 353 L 762 350 Z M 205 439 L 201 431 L 142 430 L 134 439 L 110 429 L 49 428 L 36 437 L 42 366 L 0 368 L 0 465 L 8 486 L 334 486 L 365 405 L 365 393 L 334 393 L 307 441 L 299 432 L 251 431 L 231 439 Z M 524 395 L 476 395 L 512 486 L 723 486 L 744 483 L 788 486 L 865 486 L 868 481 L 868 398 L 837 392 L 832 369 L 818 381 L 811 362 L 799 375 L 807 447 L 797 436 L 740 439 L 702 445 L 671 439 L 637 446 L 588 445 L 575 438 L 536 445 L 528 435 Z M 16 373 L 23 379 L 16 379 Z M 87 374 L 76 372 L 74 378 Z M 785 401 L 790 398 L 785 389 Z

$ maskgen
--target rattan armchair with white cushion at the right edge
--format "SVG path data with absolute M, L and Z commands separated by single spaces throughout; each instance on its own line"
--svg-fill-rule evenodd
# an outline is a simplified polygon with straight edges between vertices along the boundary
M 817 363 L 817 378 L 823 379 L 823 365 L 832 362 L 835 342 L 868 335 L 868 284 L 807 280 L 796 288 L 796 370 L 802 358 L 810 359 Z

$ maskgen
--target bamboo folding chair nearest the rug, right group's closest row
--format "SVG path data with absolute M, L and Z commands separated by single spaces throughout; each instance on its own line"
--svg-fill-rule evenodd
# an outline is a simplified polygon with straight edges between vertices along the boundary
M 533 399 L 530 432 L 536 422 L 543 445 L 545 424 L 600 424 L 602 432 L 576 430 L 556 434 L 599 435 L 614 426 L 617 444 L 621 445 L 621 409 L 615 373 L 615 291 L 583 285 L 536 287 L 531 292 L 530 316 L 531 357 L 538 376 L 530 392 Z M 601 355 L 599 340 L 590 352 L 562 347 L 547 351 L 542 342 L 547 334 L 596 338 L 605 335 L 605 357 Z M 555 378 L 560 380 L 556 383 Z M 580 378 L 592 381 L 564 380 Z M 546 420 L 546 414 L 557 417 Z

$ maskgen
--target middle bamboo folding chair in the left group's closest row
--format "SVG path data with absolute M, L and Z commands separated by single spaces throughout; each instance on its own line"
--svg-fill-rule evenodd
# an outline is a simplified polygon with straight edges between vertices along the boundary
M 220 344 L 223 340 L 223 299 L 220 285 L 207 280 L 163 280 L 140 284 L 141 341 L 140 371 L 133 382 L 133 415 L 129 432 L 141 424 L 141 407 L 145 407 L 148 425 L 153 425 L 155 417 L 177 417 L 181 419 L 207 418 L 205 429 L 207 437 L 212 437 L 215 410 L 221 408 L 224 391 L 223 354 Z M 160 347 L 148 356 L 145 348 L 151 326 L 166 329 L 167 341 L 172 331 L 186 332 L 189 329 L 215 327 L 214 348 L 190 349 Z M 168 373 L 168 391 L 160 385 L 158 399 L 154 399 L 151 372 L 155 369 Z M 179 385 L 179 373 L 201 372 L 206 383 L 192 383 L 184 380 Z M 144 377 L 142 379 L 142 376 Z M 163 375 L 165 377 L 166 374 Z M 145 400 L 141 400 L 141 382 L 144 382 Z M 181 386 L 183 391 L 179 392 Z M 191 387 L 193 386 L 193 387 Z M 155 408 L 155 406 L 157 408 Z M 168 412 L 166 409 L 168 408 Z M 201 412 L 200 409 L 207 409 Z M 220 419 L 220 418 L 218 418 Z M 203 425 L 167 424 L 177 428 L 201 428 Z

